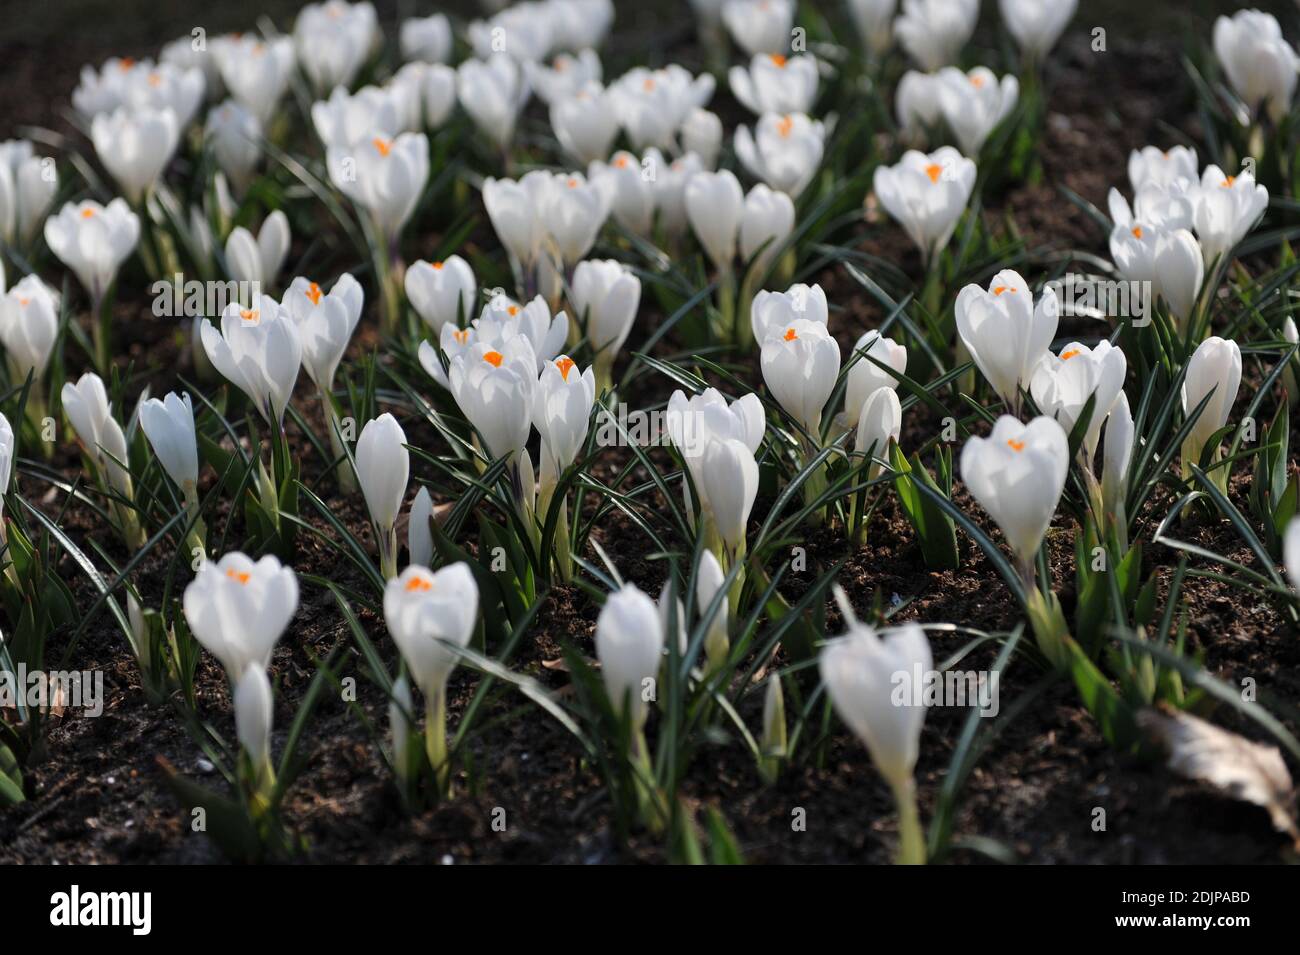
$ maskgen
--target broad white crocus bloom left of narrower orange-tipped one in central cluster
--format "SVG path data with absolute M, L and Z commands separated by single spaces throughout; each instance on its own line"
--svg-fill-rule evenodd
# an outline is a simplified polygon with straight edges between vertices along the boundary
M 451 395 L 486 444 L 488 456 L 517 457 L 528 442 L 537 359 L 517 335 L 499 346 L 477 343 L 451 360 Z

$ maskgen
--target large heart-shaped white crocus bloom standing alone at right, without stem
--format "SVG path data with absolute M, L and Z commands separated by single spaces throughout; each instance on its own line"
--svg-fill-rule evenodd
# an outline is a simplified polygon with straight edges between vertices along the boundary
M 1004 414 L 988 438 L 962 448 L 962 482 L 1001 528 L 1022 576 L 1052 524 L 1069 468 L 1066 433 L 1049 417 L 1022 425 Z

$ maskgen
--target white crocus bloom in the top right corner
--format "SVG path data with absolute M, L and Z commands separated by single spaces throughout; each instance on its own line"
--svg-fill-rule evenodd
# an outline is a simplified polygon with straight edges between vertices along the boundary
M 1238 10 L 1216 19 L 1214 56 L 1232 91 L 1252 110 L 1266 105 L 1274 122 L 1291 110 L 1300 57 L 1271 13 Z

